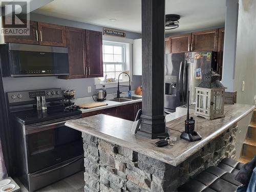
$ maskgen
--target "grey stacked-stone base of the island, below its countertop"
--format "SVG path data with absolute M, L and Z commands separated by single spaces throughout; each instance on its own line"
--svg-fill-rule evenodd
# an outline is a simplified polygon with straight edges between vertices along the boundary
M 178 166 L 82 133 L 84 191 L 176 191 L 221 159 L 235 158 L 237 124 Z

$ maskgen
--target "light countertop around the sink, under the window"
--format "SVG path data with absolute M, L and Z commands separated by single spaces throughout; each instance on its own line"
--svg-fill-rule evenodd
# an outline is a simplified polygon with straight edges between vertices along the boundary
M 92 112 L 92 111 L 104 110 L 104 109 L 108 109 L 108 108 L 114 108 L 116 106 L 121 106 L 121 105 L 125 105 L 125 104 L 132 104 L 132 103 L 136 103 L 136 102 L 141 102 L 142 101 L 142 96 L 135 95 L 134 93 L 132 94 L 132 96 L 134 96 L 134 97 L 141 97 L 141 99 L 127 100 L 125 102 L 116 102 L 116 101 L 111 101 L 110 100 L 110 99 L 113 99 L 114 97 L 116 97 L 116 94 L 109 94 L 109 95 L 107 95 L 106 100 L 104 100 L 104 102 L 108 103 L 108 105 L 98 106 L 97 108 L 91 108 L 91 109 L 80 109 L 80 111 L 82 113 L 88 113 L 88 112 Z M 124 95 L 123 97 L 126 97 L 126 95 Z M 74 99 L 74 101 L 75 101 L 76 105 L 95 102 L 92 99 L 92 97 L 78 98 L 78 99 Z

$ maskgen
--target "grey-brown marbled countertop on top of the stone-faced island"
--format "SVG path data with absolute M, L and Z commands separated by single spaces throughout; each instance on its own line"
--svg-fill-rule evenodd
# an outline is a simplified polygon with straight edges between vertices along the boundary
M 254 109 L 254 105 L 228 104 L 225 105 L 224 108 L 225 118 L 214 120 L 207 120 L 202 117 L 197 117 L 195 114 L 191 114 L 196 121 L 195 131 L 202 136 L 202 140 L 189 142 L 180 139 L 178 132 L 169 130 L 170 136 L 177 137 L 177 141 L 175 142 L 175 146 L 167 145 L 164 147 L 155 146 L 155 142 L 158 141 L 158 139 L 152 140 L 133 135 L 131 133 L 133 125 L 132 121 L 108 115 L 100 114 L 67 121 L 65 125 L 108 142 L 130 148 L 143 155 L 177 166 L 199 151 L 211 140 L 220 136 L 234 123 L 244 118 Z M 185 116 L 182 116 L 169 121 L 166 123 L 166 126 L 179 131 L 184 131 L 185 118 Z

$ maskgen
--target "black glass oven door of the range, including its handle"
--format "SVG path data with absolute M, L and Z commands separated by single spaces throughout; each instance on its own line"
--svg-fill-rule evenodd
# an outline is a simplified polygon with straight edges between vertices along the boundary
M 81 132 L 65 126 L 77 118 L 80 115 L 25 126 L 29 173 L 83 154 Z

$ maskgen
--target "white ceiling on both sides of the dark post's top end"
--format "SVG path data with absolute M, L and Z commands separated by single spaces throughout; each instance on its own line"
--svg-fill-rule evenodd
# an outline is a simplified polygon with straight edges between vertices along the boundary
M 225 0 L 165 0 L 165 14 L 179 14 L 180 27 L 194 31 L 225 23 Z M 34 13 L 104 27 L 141 32 L 141 0 L 54 0 Z M 116 21 L 109 19 L 115 18 Z

